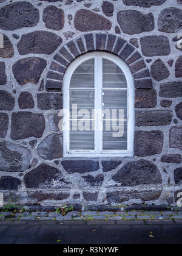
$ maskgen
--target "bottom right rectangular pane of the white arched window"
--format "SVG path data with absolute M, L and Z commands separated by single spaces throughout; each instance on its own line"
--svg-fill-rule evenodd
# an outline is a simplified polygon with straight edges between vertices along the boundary
M 103 150 L 127 150 L 127 121 L 103 121 Z

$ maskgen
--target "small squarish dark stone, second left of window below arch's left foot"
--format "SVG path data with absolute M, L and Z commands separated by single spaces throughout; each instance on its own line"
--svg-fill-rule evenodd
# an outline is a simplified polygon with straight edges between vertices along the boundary
M 20 109 L 34 108 L 35 102 L 33 100 L 32 94 L 29 91 L 22 91 L 19 94 L 18 104 Z

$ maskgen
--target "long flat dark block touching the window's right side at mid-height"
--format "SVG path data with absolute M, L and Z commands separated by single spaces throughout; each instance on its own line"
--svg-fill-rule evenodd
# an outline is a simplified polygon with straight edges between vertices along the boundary
M 153 111 L 136 111 L 136 126 L 167 126 L 172 122 L 172 111 L 170 110 L 153 110 Z

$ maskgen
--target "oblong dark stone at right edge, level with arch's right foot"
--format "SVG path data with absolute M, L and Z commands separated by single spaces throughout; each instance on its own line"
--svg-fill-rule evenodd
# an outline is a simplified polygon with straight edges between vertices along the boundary
M 182 97 L 182 82 L 168 82 L 161 84 L 159 96 L 163 98 Z

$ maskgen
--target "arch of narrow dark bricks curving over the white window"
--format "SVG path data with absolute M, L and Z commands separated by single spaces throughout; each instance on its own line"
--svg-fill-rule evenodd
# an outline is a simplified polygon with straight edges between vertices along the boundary
M 150 71 L 141 54 L 123 38 L 112 34 L 81 35 L 65 44 L 53 57 L 47 74 L 46 90 L 60 91 L 62 80 L 70 63 L 80 55 L 92 51 L 105 51 L 117 55 L 129 66 L 136 89 L 152 89 Z

